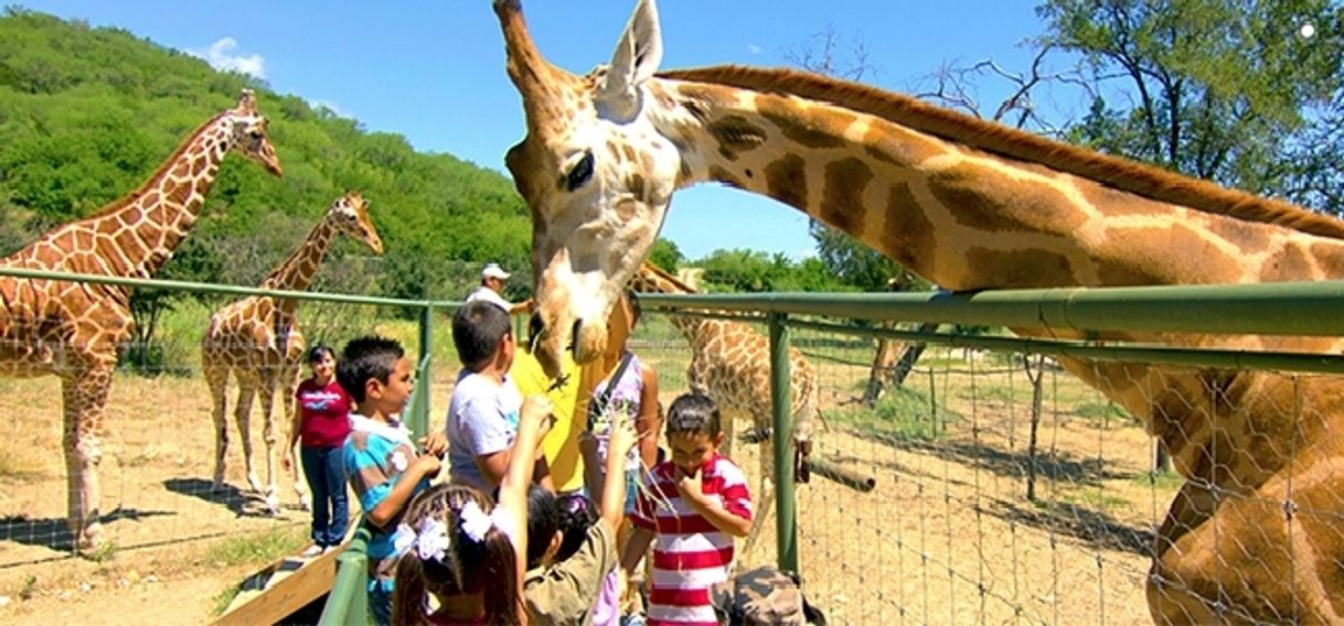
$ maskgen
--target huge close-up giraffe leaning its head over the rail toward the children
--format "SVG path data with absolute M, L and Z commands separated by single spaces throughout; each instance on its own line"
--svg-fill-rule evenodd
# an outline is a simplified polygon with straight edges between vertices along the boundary
M 899 97 L 788 70 L 655 75 L 641 0 L 610 66 L 575 77 L 496 0 L 527 137 L 507 164 L 532 210 L 542 337 L 586 361 L 672 192 L 716 180 L 788 203 L 954 290 L 1344 277 L 1344 223 Z M 1028 330 L 1046 333 L 1043 330 Z M 1051 333 L 1060 336 L 1062 333 Z M 1308 337 L 1103 339 L 1339 353 Z M 1187 478 L 1146 580 L 1161 623 L 1344 621 L 1337 377 L 1063 364 L 1145 420 Z

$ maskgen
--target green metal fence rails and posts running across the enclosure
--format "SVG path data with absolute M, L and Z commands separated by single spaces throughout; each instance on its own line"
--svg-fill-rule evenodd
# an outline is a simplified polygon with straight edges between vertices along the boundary
M 413 396 L 409 426 L 423 435 L 429 423 L 429 372 L 433 314 L 453 309 L 457 301 L 398 300 L 368 296 L 340 296 L 313 292 L 285 292 L 228 285 L 206 285 L 180 281 L 118 278 L 71 273 L 0 267 L 0 275 L 120 285 L 128 287 L 171 289 L 234 296 L 271 296 L 306 301 L 347 302 L 378 306 L 418 308 L 421 314 L 421 355 L 418 384 Z M 1202 334 L 1282 334 L 1344 336 L 1344 282 L 1258 283 L 1258 285 L 1184 285 L 1106 289 L 1031 289 L 981 293 L 902 293 L 902 294 L 833 294 L 833 293 L 765 293 L 765 294 L 642 294 L 641 302 L 671 313 L 703 314 L 706 309 L 749 312 L 769 326 L 771 349 L 771 402 L 774 433 L 790 431 L 789 394 L 789 328 L 816 329 L 859 337 L 887 337 L 909 341 L 950 344 L 968 348 L 1012 349 L 1050 356 L 1145 361 L 1172 365 L 1222 368 L 1271 368 L 1284 371 L 1344 373 L 1344 356 L 1184 349 L 1165 345 L 1114 344 L 1091 340 L 1043 340 L 1027 337 L 957 336 L 860 328 L 852 324 L 798 320 L 797 316 L 820 316 L 847 320 L 892 320 L 907 322 L 968 324 L 1047 329 L 1070 336 L 1094 337 L 1102 332 L 1136 333 L 1202 333 Z M 794 316 L 790 318 L 790 316 Z M 741 314 L 710 317 L 742 318 Z M 1048 334 L 1048 333 L 1047 333 Z M 778 563 L 797 571 L 797 524 L 792 481 L 789 438 L 775 437 Z M 340 568 L 332 587 L 321 623 L 367 622 L 368 562 L 364 547 L 366 529 L 340 556 Z

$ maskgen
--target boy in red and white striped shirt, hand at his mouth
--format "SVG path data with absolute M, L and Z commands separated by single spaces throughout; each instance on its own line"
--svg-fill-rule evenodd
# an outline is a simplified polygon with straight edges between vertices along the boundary
M 621 567 L 633 575 L 656 539 L 648 623 L 716 625 L 710 587 L 727 580 L 732 537 L 751 531 L 751 496 L 742 470 L 719 455 L 719 407 L 708 396 L 677 398 L 667 434 L 672 459 L 645 478 Z

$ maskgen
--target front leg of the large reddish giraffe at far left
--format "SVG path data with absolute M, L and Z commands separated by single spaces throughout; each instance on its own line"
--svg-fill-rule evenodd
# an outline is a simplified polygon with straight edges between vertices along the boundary
M 66 481 L 69 525 L 77 552 L 87 552 L 102 543 L 98 510 L 98 462 L 102 459 L 98 431 L 102 427 L 112 363 L 99 363 L 75 377 L 62 380 L 65 400 Z

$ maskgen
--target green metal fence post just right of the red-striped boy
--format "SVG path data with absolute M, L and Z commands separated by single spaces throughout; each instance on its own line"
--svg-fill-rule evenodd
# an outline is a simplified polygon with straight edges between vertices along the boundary
M 775 535 L 778 566 L 798 571 L 798 519 L 793 500 L 793 394 L 789 390 L 789 326 L 770 313 L 770 406 L 774 411 Z

